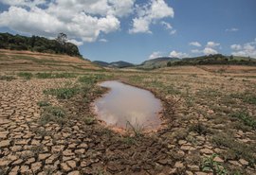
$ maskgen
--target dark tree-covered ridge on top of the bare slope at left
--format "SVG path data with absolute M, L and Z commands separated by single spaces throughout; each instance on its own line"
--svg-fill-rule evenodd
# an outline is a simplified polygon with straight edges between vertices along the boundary
M 59 40 L 58 40 L 59 39 Z M 66 43 L 67 37 L 60 33 L 56 40 L 49 40 L 44 37 L 11 35 L 0 33 L 0 48 L 10 50 L 28 50 L 50 54 L 66 54 L 69 56 L 81 57 L 78 46 Z

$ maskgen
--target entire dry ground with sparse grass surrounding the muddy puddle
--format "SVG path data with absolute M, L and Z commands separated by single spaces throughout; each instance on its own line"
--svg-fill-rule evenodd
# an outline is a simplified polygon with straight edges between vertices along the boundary
M 2 71 L 0 174 L 256 174 L 255 72 L 212 69 L 69 79 Z M 98 123 L 90 103 L 104 92 L 96 86 L 104 79 L 153 91 L 164 102 L 164 128 L 120 135 Z

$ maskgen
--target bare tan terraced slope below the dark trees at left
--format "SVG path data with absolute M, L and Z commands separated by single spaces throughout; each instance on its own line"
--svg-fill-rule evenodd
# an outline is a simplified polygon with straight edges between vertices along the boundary
M 0 49 L 0 70 L 75 71 L 101 70 L 101 68 L 80 57 Z

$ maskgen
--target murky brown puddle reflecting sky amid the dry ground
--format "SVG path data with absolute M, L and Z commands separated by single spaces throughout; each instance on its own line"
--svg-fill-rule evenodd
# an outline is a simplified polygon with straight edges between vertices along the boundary
M 160 127 L 162 104 L 151 92 L 118 80 L 104 81 L 100 86 L 110 91 L 98 98 L 94 107 L 98 118 L 108 126 L 128 129 L 131 124 L 144 130 Z

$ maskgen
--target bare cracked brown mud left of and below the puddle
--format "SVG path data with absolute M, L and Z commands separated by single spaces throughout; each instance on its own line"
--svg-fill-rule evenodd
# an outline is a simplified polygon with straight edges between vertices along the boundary
M 40 125 L 43 91 L 57 88 L 65 79 L 0 80 L 0 167 L 4 174 L 211 174 L 202 172 L 198 158 L 221 153 L 224 148 L 210 144 L 208 135 L 190 132 L 196 144 L 183 138 L 168 141 L 167 133 L 186 128 L 170 110 L 165 115 L 168 127 L 145 135 L 129 144 L 119 133 L 100 124 L 86 125 L 82 116 L 90 113 L 82 99 L 59 101 L 47 96 L 52 105 L 63 106 L 71 118 L 61 126 L 54 122 Z M 199 117 L 200 121 L 207 121 Z M 221 124 L 219 124 L 221 125 Z M 216 126 L 221 127 L 221 126 Z M 249 136 L 255 132 L 238 131 L 236 137 L 246 144 L 255 143 Z M 223 163 L 216 157 L 216 162 Z M 233 166 L 256 171 L 244 159 L 229 160 Z M 255 165 L 254 165 L 255 166 Z

